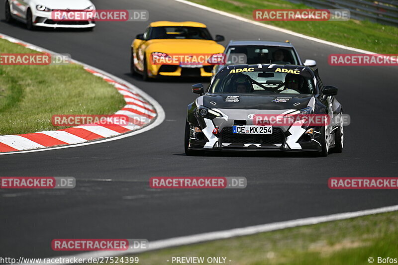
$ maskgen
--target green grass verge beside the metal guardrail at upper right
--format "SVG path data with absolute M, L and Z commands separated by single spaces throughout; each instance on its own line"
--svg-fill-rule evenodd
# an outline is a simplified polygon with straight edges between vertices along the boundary
M 191 0 L 205 6 L 253 19 L 254 9 L 308 8 L 285 0 Z M 370 21 L 264 21 L 308 36 L 385 54 L 398 53 L 398 27 Z M 259 36 L 253 36 L 253 39 Z M 286 35 L 289 39 L 289 35 Z M 285 39 L 281 39 L 285 41 Z

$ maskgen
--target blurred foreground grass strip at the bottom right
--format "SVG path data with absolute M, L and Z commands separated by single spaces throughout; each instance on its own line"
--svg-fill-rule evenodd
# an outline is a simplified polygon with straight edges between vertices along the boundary
M 172 264 L 172 257 L 226 257 L 228 265 L 365 265 L 369 257 L 374 264 L 377 257 L 398 258 L 397 238 L 398 212 L 391 212 L 135 256 L 145 265 Z

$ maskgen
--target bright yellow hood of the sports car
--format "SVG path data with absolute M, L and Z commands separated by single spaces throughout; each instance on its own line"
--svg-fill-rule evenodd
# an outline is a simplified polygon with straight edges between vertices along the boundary
M 147 42 L 147 52 L 163 53 L 222 53 L 224 46 L 213 40 L 156 39 Z

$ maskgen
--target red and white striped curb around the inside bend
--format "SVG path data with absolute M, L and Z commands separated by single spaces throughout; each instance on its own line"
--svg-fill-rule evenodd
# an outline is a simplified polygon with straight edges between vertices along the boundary
M 35 51 L 57 54 L 4 34 L 0 34 L 0 38 Z M 83 65 L 86 71 L 113 85 L 118 92 L 123 95 L 126 102 L 126 105 L 114 114 L 126 115 L 130 117 L 130 121 L 133 122 L 123 126 L 117 124 L 86 124 L 56 131 L 44 131 L 20 135 L 3 135 L 0 136 L 0 154 L 17 153 L 18 151 L 28 150 L 39 151 L 37 149 L 40 149 L 40 151 L 59 149 L 62 147 L 65 148 L 67 145 L 81 146 L 85 145 L 84 143 L 93 140 L 96 141 L 86 144 L 103 142 L 105 138 L 110 137 L 112 138 L 106 139 L 106 141 L 117 140 L 135 135 L 138 131 L 147 131 L 163 122 L 165 117 L 163 108 L 155 99 L 150 97 L 141 89 L 95 67 L 76 60 L 71 60 L 71 63 Z M 144 128 L 145 130 L 143 130 Z

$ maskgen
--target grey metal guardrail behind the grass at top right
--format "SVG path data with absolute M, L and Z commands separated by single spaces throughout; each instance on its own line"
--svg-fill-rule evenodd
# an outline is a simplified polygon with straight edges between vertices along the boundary
M 398 0 L 290 0 L 317 8 L 349 9 L 351 17 L 398 26 Z

